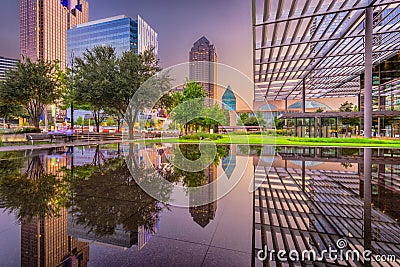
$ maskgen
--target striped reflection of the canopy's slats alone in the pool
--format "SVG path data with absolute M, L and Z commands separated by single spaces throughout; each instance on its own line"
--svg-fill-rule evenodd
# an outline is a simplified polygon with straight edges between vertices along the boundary
M 341 179 L 336 179 L 341 176 Z M 321 253 L 346 237 L 349 247 L 362 254 L 364 204 L 354 189 L 360 187 L 354 172 L 257 167 L 256 180 L 266 179 L 255 192 L 255 251 L 307 249 Z M 400 256 L 400 226 L 372 209 L 374 253 Z M 257 261 L 257 260 L 256 260 Z M 347 266 L 350 262 L 324 262 Z M 352 263 L 358 264 L 360 263 Z

